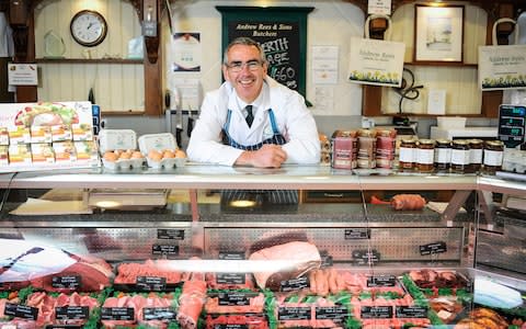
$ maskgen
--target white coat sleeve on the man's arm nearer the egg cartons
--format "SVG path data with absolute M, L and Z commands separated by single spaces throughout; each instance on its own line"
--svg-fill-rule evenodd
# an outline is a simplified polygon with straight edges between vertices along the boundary
M 221 143 L 221 129 L 227 112 L 221 109 L 220 93 L 207 93 L 201 106 L 197 118 L 186 149 L 188 159 L 196 162 L 233 166 L 241 149 Z

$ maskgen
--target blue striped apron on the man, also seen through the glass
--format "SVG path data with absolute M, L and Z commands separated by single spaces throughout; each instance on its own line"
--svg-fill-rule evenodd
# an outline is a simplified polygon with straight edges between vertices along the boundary
M 284 145 L 287 143 L 285 137 L 279 133 L 277 128 L 276 118 L 272 109 L 268 110 L 268 118 L 271 121 L 273 136 L 254 145 L 242 145 L 237 143 L 228 129 L 230 128 L 230 120 L 232 116 L 232 111 L 228 110 L 227 121 L 222 127 L 222 143 L 225 145 L 230 145 L 237 149 L 242 150 L 259 150 L 265 144 L 275 144 Z M 229 202 L 235 200 L 256 200 L 263 204 L 297 204 L 298 203 L 298 191 L 285 191 L 285 190 L 224 190 L 222 191 L 221 202 Z

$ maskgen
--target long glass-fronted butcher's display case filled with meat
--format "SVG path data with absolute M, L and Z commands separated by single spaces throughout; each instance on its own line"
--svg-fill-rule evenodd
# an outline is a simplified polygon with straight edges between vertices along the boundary
M 522 182 L 188 163 L 4 173 L 0 184 L 0 300 L 10 305 L 2 329 L 21 321 L 521 328 L 526 320 L 526 223 L 513 207 L 526 194 Z M 249 193 L 232 203 L 227 190 Z M 268 191 L 291 191 L 298 202 Z M 43 316 L 35 294 L 57 293 L 98 302 Z

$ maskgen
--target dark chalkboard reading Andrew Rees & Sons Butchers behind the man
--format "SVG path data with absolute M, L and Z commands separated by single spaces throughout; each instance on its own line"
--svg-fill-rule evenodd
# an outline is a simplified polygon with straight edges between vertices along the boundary
M 216 7 L 222 14 L 222 47 L 239 36 L 260 43 L 268 76 L 305 97 L 307 14 L 313 8 Z

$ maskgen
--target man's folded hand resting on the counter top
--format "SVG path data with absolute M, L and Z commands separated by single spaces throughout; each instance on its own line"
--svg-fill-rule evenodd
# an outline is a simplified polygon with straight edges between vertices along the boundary
M 236 160 L 238 166 L 279 168 L 287 160 L 287 154 L 279 145 L 264 144 L 259 150 L 243 151 Z

